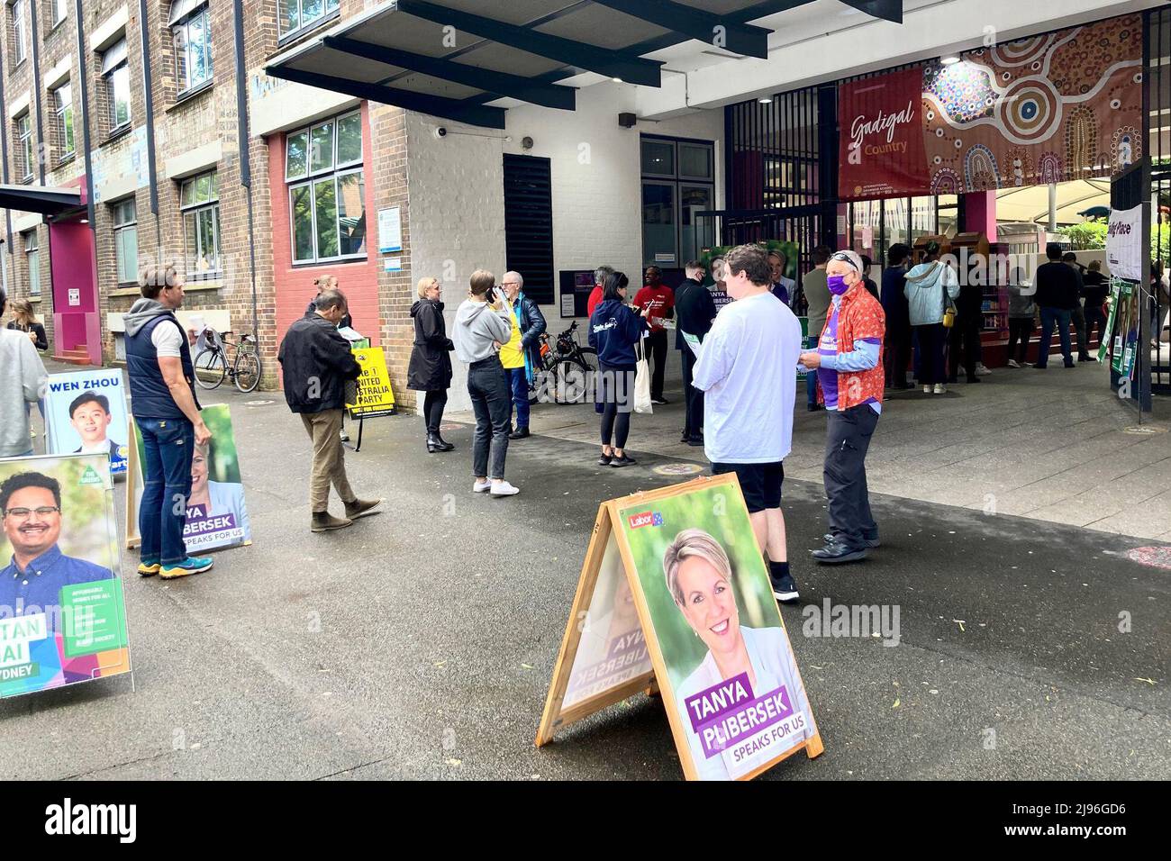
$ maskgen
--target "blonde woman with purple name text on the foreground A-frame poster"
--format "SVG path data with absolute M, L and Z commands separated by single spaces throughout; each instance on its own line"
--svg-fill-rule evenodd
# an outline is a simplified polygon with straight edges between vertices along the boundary
M 809 702 L 785 630 L 740 624 L 720 542 L 684 529 L 663 555 L 663 573 L 676 607 L 707 647 L 676 691 L 697 777 L 741 777 L 812 738 Z

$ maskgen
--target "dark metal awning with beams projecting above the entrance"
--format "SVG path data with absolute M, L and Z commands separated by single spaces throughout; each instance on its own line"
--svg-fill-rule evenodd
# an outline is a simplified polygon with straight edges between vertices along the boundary
M 573 110 L 584 71 L 659 87 L 649 54 L 699 40 L 768 57 L 752 22 L 814 0 L 397 0 L 273 57 L 274 77 L 493 129 L 501 98 Z M 902 22 L 903 0 L 841 0 Z

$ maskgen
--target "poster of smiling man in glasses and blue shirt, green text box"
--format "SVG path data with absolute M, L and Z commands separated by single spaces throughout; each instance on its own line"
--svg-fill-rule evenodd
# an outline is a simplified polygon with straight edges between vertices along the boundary
M 109 455 L 0 460 L 0 698 L 130 671 Z

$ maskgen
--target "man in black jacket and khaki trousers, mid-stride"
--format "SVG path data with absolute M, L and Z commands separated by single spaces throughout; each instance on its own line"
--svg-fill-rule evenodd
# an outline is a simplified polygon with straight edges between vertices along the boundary
M 337 333 L 347 315 L 345 296 L 340 291 L 323 291 L 314 314 L 289 327 L 276 355 L 285 378 L 285 401 L 313 440 L 313 477 L 309 496 L 314 532 L 341 529 L 382 504 L 381 499 L 358 499 L 345 477 L 345 449 L 338 432 L 345 409 L 345 382 L 362 374 L 350 346 Z M 345 517 L 329 513 L 329 485 L 345 503 Z

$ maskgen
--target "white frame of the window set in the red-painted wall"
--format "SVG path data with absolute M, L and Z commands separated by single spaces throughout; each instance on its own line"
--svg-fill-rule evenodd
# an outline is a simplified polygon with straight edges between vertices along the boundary
M 337 150 L 340 136 L 337 134 L 338 125 L 344 119 L 351 117 L 357 117 L 357 131 L 358 131 L 358 155 L 357 158 L 351 158 L 345 162 L 338 163 Z M 313 132 L 330 128 L 330 159 L 328 166 L 313 166 Z M 306 136 L 306 150 L 304 150 L 304 171 L 296 175 L 289 175 L 289 158 L 288 158 L 288 145 L 289 139 L 297 137 L 300 135 Z M 362 128 L 362 109 L 356 108 L 354 110 L 348 110 L 344 114 L 338 114 L 337 116 L 329 117 L 328 119 L 320 121 L 316 123 L 310 123 L 309 125 L 294 129 L 285 135 L 285 185 L 288 191 L 288 213 L 289 213 L 289 260 L 294 266 L 313 266 L 315 264 L 323 262 L 336 262 L 336 261 L 348 261 L 348 260 L 363 260 L 368 259 L 370 254 L 370 237 L 369 231 L 363 240 L 363 248 L 359 252 L 351 254 L 342 254 L 342 227 L 340 214 L 337 212 L 341 191 L 341 179 L 342 177 L 358 175 L 359 183 L 364 185 L 365 183 L 365 131 Z M 329 257 L 322 257 L 321 250 L 319 248 L 317 237 L 319 237 L 319 225 L 317 225 L 317 194 L 316 185 L 324 179 L 331 179 L 334 185 L 334 231 L 337 238 L 337 254 Z M 297 258 L 297 223 L 296 212 L 294 210 L 294 196 L 300 189 L 309 189 L 309 219 L 310 228 L 313 233 L 313 255 L 310 258 Z M 367 212 L 367 200 L 365 194 L 362 196 L 362 214 L 365 216 Z

